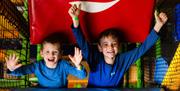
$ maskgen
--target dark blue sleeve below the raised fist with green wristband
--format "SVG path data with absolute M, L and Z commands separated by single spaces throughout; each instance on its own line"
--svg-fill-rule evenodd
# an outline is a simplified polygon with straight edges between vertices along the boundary
M 78 26 L 77 28 L 75 28 L 73 25 L 71 26 L 72 27 L 72 31 L 73 31 L 73 34 L 76 38 L 76 41 L 79 45 L 79 47 L 81 48 L 82 50 L 82 54 L 83 54 L 83 57 L 87 60 L 87 61 L 90 61 L 89 60 L 89 57 L 90 57 L 90 48 L 89 48 L 89 44 L 88 42 L 85 40 L 82 32 L 81 32 L 81 28 L 80 26 Z

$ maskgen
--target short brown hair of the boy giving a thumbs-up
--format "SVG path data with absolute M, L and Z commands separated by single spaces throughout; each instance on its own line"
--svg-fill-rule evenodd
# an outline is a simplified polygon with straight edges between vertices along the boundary
M 109 28 L 106 29 L 105 31 L 101 32 L 99 37 L 98 37 L 98 43 L 100 44 L 100 40 L 104 37 L 112 36 L 113 38 L 116 38 L 118 40 L 118 43 L 120 43 L 120 36 L 122 34 L 118 29 L 115 28 Z

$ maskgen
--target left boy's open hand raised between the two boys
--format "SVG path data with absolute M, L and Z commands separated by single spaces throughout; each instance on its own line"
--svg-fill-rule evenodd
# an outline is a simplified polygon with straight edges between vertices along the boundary
M 69 55 L 69 58 L 74 63 L 74 65 L 80 70 L 81 69 L 81 61 L 82 61 L 82 52 L 79 48 L 74 48 L 74 56 Z

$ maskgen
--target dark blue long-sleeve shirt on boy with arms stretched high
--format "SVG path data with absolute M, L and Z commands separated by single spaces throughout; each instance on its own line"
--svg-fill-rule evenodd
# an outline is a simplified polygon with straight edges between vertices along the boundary
M 150 49 L 158 39 L 157 33 L 152 30 L 140 47 L 129 52 L 117 54 L 114 64 L 109 65 L 105 62 L 102 53 L 89 46 L 82 35 L 80 27 L 74 28 L 72 26 L 72 31 L 82 50 L 83 57 L 90 66 L 89 87 L 117 87 L 131 64 Z

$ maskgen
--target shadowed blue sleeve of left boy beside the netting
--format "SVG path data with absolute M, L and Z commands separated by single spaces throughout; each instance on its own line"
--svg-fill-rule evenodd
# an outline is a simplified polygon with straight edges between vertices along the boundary
M 14 71 L 8 70 L 7 73 L 13 76 L 22 76 L 26 74 L 32 74 L 35 71 L 35 63 L 21 66 Z

